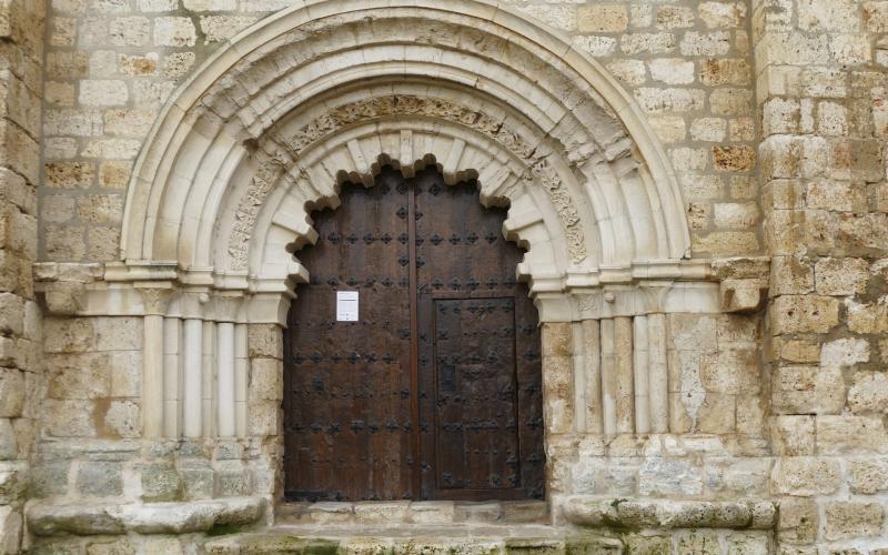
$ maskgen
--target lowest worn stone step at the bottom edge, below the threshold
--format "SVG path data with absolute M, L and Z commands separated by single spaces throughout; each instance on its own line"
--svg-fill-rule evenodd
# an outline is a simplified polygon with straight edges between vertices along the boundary
M 618 539 L 542 525 L 275 526 L 204 544 L 214 555 L 617 555 Z

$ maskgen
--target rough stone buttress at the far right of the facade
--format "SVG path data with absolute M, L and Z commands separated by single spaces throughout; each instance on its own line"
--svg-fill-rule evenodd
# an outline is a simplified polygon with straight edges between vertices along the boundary
M 767 357 L 787 552 L 888 545 L 888 2 L 754 2 Z

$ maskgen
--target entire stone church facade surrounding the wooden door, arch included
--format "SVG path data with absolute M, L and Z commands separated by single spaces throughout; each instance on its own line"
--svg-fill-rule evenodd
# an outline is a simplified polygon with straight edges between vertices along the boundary
M 888 553 L 888 1 L 0 14 L 0 552 Z M 300 251 L 383 171 L 507 209 L 544 501 L 285 498 Z

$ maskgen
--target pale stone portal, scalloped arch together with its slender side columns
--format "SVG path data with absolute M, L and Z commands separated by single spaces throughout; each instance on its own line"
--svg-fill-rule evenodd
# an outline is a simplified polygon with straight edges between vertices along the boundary
M 142 293 L 144 436 L 280 435 L 273 336 L 309 279 L 307 214 L 385 164 L 477 179 L 508 208 L 544 323 L 553 498 L 576 437 L 669 430 L 665 314 L 717 312 L 718 286 L 687 260 L 675 175 L 630 98 L 495 2 L 319 0 L 231 39 L 137 162 L 105 280 Z

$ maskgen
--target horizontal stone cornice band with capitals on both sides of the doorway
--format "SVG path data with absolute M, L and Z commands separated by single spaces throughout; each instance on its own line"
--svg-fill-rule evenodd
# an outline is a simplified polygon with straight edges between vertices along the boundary
M 758 310 L 768 268 L 766 258 L 639 263 L 532 279 L 531 294 L 544 322 L 744 312 Z M 205 269 L 184 270 L 173 263 L 109 263 L 103 268 L 39 263 L 34 274 L 49 312 L 57 315 L 190 314 L 211 321 L 284 325 L 290 300 L 297 291 L 293 280 L 211 275 Z M 194 302 L 183 304 L 185 297 Z M 147 306 L 145 301 L 152 304 Z

